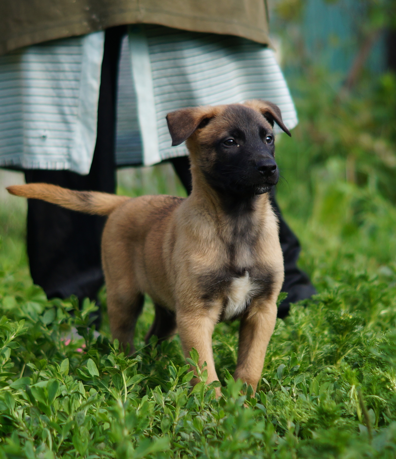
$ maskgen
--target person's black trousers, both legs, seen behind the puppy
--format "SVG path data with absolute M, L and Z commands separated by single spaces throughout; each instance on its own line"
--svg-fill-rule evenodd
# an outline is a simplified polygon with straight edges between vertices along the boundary
M 96 146 L 88 175 L 70 171 L 27 170 L 27 183 L 45 182 L 72 190 L 115 192 L 115 108 L 120 44 L 124 26 L 109 28 L 105 35 L 102 79 L 99 91 Z M 176 174 L 191 192 L 188 157 L 170 160 Z M 278 316 L 289 311 L 289 302 L 315 293 L 308 277 L 297 268 L 300 244 L 284 222 L 272 196 L 280 221 L 280 241 L 285 260 L 283 290 L 289 292 Z M 105 218 L 85 215 L 44 201 L 28 200 L 28 257 L 30 273 L 48 298 L 96 299 L 103 284 L 100 241 Z

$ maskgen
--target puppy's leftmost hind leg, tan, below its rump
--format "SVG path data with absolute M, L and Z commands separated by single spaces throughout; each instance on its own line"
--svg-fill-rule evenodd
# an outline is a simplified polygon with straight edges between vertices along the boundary
M 138 291 L 125 292 L 122 289 L 107 286 L 107 311 L 113 339 L 118 339 L 126 350 L 129 344 L 130 354 L 135 352 L 133 338 L 137 318 L 144 303 L 144 295 Z

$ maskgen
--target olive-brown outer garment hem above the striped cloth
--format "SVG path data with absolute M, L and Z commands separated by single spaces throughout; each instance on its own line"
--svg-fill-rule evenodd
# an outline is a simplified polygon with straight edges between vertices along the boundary
M 0 54 L 136 23 L 268 44 L 266 16 L 266 0 L 0 0 Z

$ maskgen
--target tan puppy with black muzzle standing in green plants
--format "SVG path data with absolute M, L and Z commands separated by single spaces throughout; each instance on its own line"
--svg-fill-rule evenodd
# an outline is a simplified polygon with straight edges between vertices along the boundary
M 235 378 L 256 389 L 283 283 L 277 218 L 268 191 L 278 180 L 274 160 L 277 106 L 265 101 L 184 108 L 169 113 L 172 145 L 187 140 L 192 194 L 128 198 L 55 185 L 8 188 L 80 212 L 108 215 L 102 264 L 113 338 L 133 350 L 143 294 L 155 304 L 146 339 L 177 328 L 217 380 L 212 333 L 220 320 L 240 318 Z M 220 392 L 218 392 L 220 394 Z

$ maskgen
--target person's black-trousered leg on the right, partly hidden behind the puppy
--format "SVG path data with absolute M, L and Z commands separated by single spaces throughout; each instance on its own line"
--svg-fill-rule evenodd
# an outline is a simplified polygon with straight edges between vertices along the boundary
M 181 183 L 190 194 L 192 190 L 192 180 L 190 172 L 190 161 L 187 156 L 171 158 L 176 174 L 179 176 Z M 275 200 L 274 193 L 271 193 L 271 204 L 279 219 L 279 241 L 281 243 L 285 280 L 283 281 L 282 291 L 288 293 L 288 296 L 279 305 L 277 316 L 283 319 L 289 313 L 290 303 L 304 300 L 316 293 L 315 287 L 311 284 L 309 277 L 298 268 L 297 262 L 300 256 L 300 242 L 297 236 L 284 221 L 281 211 Z

